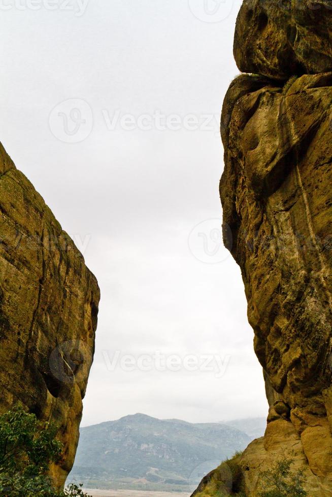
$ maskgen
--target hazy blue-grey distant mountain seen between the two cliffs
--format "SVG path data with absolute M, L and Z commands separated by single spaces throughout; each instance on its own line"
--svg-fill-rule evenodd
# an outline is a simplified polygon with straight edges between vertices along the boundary
M 226 424 L 129 415 L 81 429 L 70 477 L 99 488 L 196 485 L 250 441 Z

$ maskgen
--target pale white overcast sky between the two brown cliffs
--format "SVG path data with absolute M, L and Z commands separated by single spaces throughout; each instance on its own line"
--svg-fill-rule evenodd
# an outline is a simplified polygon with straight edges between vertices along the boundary
M 218 249 L 219 115 L 238 74 L 238 9 L 0 0 L 0 139 L 102 291 L 83 425 L 267 413 L 240 270 Z M 189 371 L 202 356 L 213 370 Z

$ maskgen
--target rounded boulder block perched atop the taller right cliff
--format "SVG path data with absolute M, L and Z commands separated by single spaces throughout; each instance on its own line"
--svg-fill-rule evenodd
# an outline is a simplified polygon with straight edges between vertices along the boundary
M 244 73 L 276 79 L 332 70 L 330 0 L 244 0 L 234 40 Z

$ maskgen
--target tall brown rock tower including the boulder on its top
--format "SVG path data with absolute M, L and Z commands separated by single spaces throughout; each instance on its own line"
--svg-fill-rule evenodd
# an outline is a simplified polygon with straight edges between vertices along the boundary
M 245 0 L 234 54 L 256 74 L 236 78 L 223 104 L 224 243 L 241 267 L 270 411 L 264 437 L 236 459 L 233 491 L 241 480 L 247 496 L 258 495 L 262 471 L 287 457 L 310 497 L 328 496 L 332 4 Z M 213 495 L 205 492 L 219 473 L 195 495 Z

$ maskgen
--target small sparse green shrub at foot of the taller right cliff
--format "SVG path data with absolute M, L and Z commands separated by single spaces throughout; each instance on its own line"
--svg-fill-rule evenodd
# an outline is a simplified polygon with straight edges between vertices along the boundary
M 259 497 L 305 497 L 304 475 L 302 471 L 292 473 L 293 460 L 283 458 L 277 461 L 270 471 L 261 474 L 262 491 Z

